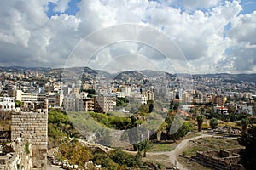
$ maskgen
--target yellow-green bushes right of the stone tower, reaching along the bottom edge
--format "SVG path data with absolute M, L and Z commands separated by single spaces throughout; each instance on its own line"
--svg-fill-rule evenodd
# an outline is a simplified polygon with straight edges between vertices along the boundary
M 134 118 L 132 122 L 135 123 Z M 69 137 L 77 134 L 64 111 L 49 111 L 49 139 L 52 146 L 58 147 L 59 154 L 57 157 L 60 161 L 67 160 L 72 164 L 79 165 L 79 168 L 84 168 L 84 163 L 92 160 L 95 164 L 102 165 L 102 169 L 113 170 L 140 167 L 142 164 L 141 156 L 132 156 L 121 150 L 113 150 L 108 154 L 93 154 L 78 140 L 69 140 Z

